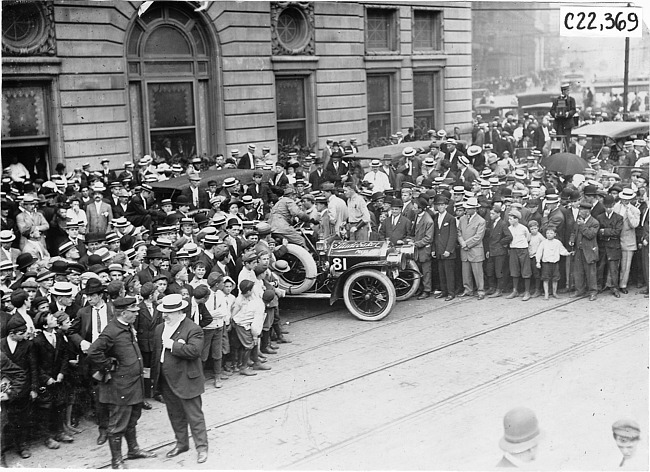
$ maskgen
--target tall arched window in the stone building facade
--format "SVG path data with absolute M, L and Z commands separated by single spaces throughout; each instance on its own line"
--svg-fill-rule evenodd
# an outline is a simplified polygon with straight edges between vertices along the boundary
M 126 46 L 133 152 L 171 164 L 209 152 L 211 48 L 183 3 L 156 4 Z

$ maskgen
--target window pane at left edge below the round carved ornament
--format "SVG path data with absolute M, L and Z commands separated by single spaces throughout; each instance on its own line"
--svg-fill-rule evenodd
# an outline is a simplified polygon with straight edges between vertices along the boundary
M 41 87 L 2 90 L 2 137 L 47 136 Z

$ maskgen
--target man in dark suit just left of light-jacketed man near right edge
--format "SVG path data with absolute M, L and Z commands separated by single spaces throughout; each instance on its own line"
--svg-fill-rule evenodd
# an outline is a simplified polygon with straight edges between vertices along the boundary
M 603 200 L 605 213 L 599 215 L 598 223 L 598 282 L 602 290 L 611 289 L 616 298 L 621 298 L 618 291 L 618 275 L 621 266 L 621 231 L 623 231 L 623 217 L 614 211 L 616 201 L 611 195 Z M 607 268 L 607 279 L 605 279 Z

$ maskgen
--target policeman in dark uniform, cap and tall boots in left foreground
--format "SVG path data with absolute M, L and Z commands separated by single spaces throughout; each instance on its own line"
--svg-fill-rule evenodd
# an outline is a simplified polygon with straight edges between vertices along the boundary
M 103 377 L 99 401 L 109 408 L 108 443 L 113 469 L 123 469 L 122 437 L 128 445 L 127 459 L 155 457 L 138 446 L 136 425 L 144 402 L 142 353 L 133 329 L 138 316 L 133 297 L 115 300 L 115 318 L 88 348 L 88 358 Z

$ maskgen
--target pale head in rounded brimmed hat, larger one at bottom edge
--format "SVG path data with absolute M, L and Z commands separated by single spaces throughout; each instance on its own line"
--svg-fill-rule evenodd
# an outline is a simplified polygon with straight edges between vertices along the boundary
M 529 468 L 529 463 L 537 458 L 537 447 L 543 436 L 537 417 L 530 408 L 513 408 L 503 418 L 503 437 L 499 447 L 504 455 L 496 467 Z

